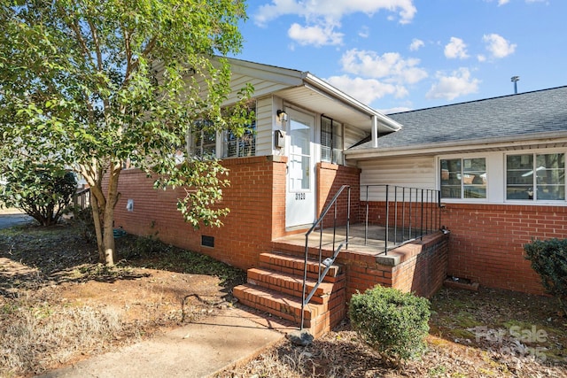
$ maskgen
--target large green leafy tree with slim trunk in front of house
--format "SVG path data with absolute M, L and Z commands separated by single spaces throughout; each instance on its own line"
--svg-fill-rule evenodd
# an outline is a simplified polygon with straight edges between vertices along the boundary
M 180 161 L 178 151 L 199 127 L 241 135 L 248 124 L 252 89 L 229 103 L 222 58 L 241 49 L 244 0 L 1 4 L 0 160 L 49 158 L 84 177 L 101 262 L 116 259 L 114 208 L 127 161 L 159 188 L 186 188 L 178 208 L 191 224 L 220 225 L 225 169 L 188 154 Z

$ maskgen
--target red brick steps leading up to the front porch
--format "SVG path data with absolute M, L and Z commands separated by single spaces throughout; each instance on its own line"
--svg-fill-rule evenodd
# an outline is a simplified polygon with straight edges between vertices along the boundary
M 233 289 L 243 305 L 269 312 L 300 325 L 305 261 L 278 252 L 260 254 L 260 267 L 248 269 L 248 282 Z M 325 266 L 321 266 L 321 271 Z M 319 264 L 307 261 L 307 293 L 315 287 Z M 346 275 L 331 266 L 304 309 L 304 328 L 317 337 L 336 326 L 346 315 Z

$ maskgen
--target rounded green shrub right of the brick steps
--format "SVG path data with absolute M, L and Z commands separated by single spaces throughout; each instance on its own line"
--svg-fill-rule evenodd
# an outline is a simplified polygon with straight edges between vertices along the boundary
M 353 328 L 386 361 L 399 364 L 425 350 L 431 312 L 423 297 L 377 285 L 353 295 L 349 315 Z

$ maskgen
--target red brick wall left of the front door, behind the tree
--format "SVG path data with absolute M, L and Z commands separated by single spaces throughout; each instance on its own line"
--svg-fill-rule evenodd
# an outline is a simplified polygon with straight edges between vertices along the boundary
M 223 227 L 198 230 L 186 224 L 176 210 L 176 198 L 183 196 L 183 189 L 155 190 L 152 180 L 140 171 L 123 171 L 114 226 L 136 235 L 157 233 L 165 243 L 243 269 L 257 266 L 258 255 L 269 251 L 273 235 L 284 232 L 285 201 L 278 201 L 285 196 L 285 162 L 285 158 L 273 157 L 224 160 L 230 187 L 223 189 L 221 206 L 229 207 L 230 213 L 222 219 Z M 126 211 L 128 198 L 134 199 L 134 212 Z M 214 248 L 201 246 L 201 235 L 214 236 Z

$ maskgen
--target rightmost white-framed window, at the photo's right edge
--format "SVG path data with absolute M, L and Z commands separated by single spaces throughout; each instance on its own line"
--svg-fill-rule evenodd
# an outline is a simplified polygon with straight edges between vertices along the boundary
M 521 154 L 506 157 L 506 199 L 565 199 L 565 155 Z

